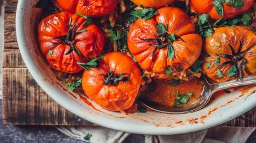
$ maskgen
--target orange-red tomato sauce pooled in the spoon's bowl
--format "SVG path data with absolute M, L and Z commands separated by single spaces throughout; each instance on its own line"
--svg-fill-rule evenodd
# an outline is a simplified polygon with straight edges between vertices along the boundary
M 177 90 L 179 90 L 180 94 L 193 93 L 192 96 L 189 96 L 187 104 L 196 101 L 203 90 L 203 82 L 198 78 L 189 82 L 182 82 L 175 86 L 171 85 L 170 82 L 154 82 L 149 86 L 149 90 L 147 90 L 141 98 L 161 106 L 173 106 L 175 99 L 177 98 L 174 96 L 174 92 Z

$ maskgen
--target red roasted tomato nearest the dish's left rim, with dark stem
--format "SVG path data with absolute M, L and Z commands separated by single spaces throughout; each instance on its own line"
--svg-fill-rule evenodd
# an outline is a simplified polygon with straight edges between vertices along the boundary
M 88 61 L 102 53 L 104 36 L 85 18 L 58 13 L 44 18 L 38 26 L 39 46 L 50 66 L 65 73 L 77 73 L 83 68 L 77 62 Z

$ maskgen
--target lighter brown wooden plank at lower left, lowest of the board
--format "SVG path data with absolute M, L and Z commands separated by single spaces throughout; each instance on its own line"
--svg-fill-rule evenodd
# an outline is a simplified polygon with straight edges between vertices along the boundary
M 3 121 L 15 125 L 93 125 L 58 105 L 27 68 L 3 69 Z

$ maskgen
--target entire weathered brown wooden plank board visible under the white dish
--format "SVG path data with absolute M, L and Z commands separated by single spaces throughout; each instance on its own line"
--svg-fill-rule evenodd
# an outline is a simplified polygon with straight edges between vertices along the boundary
M 31 77 L 17 45 L 15 12 L 18 0 L 5 1 L 3 118 L 15 125 L 92 125 L 51 99 Z M 222 127 L 256 127 L 256 108 Z

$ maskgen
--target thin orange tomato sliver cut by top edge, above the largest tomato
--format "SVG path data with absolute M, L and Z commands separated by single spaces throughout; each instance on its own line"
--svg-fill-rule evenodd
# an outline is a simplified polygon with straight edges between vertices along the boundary
M 144 6 L 145 8 L 154 8 L 158 9 L 163 6 L 172 4 L 174 0 L 131 0 L 133 3 L 135 3 L 137 6 Z

